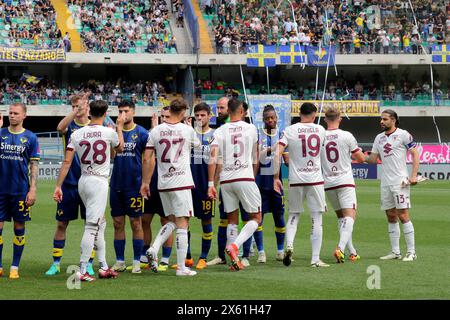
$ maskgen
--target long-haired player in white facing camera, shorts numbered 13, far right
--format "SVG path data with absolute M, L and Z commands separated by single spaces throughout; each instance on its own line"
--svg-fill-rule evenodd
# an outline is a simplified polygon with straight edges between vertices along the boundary
M 409 218 L 410 185 L 417 183 L 419 170 L 419 153 L 411 134 L 400 129 L 398 115 L 391 109 L 381 113 L 381 129 L 384 131 L 375 137 L 368 163 L 377 163 L 381 159 L 381 210 L 386 211 L 388 232 L 391 241 L 391 253 L 381 257 L 382 260 L 401 259 L 400 226 L 403 224 L 407 253 L 403 261 L 417 259 L 414 245 L 414 226 Z M 412 155 L 412 170 L 408 176 L 406 153 Z

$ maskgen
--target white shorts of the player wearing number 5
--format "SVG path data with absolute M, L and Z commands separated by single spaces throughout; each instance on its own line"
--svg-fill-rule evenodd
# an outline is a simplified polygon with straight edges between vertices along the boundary
M 236 181 L 220 185 L 226 213 L 239 209 L 239 201 L 248 213 L 261 212 L 261 193 L 254 181 Z

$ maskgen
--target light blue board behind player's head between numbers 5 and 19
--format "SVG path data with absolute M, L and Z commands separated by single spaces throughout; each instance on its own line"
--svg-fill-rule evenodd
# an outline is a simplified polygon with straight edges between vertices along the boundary
M 291 96 L 290 95 L 248 95 L 249 109 L 253 124 L 259 129 L 264 128 L 263 110 L 271 104 L 278 114 L 278 129 L 283 131 L 291 124 Z

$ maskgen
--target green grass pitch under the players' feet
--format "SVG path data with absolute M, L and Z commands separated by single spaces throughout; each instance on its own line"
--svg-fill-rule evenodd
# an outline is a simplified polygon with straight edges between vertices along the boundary
M 381 261 L 389 252 L 387 222 L 379 209 L 379 181 L 357 181 L 358 218 L 354 229 L 354 244 L 361 260 L 336 264 L 332 256 L 338 241 L 337 221 L 333 212 L 324 216 L 324 241 L 321 258 L 329 268 L 310 268 L 309 214 L 300 218 L 295 241 L 295 261 L 290 267 L 275 261 L 273 220 L 266 215 L 264 244 L 268 261 L 256 263 L 242 272 L 233 273 L 226 266 L 213 266 L 196 277 L 179 278 L 175 271 L 140 275 L 122 273 L 118 279 L 82 283 L 80 290 L 69 290 L 66 273 L 69 265 L 76 265 L 80 253 L 82 222 L 72 222 L 68 228 L 61 273 L 54 277 L 44 275 L 52 262 L 51 249 L 55 229 L 55 203 L 52 200 L 54 182 L 40 182 L 37 204 L 32 221 L 27 224 L 26 246 L 20 265 L 20 279 L 8 279 L 12 257 L 12 225 L 3 230 L 3 266 L 0 278 L 0 300 L 6 299 L 449 299 L 449 230 L 450 182 L 427 181 L 412 188 L 411 217 L 416 233 L 418 260 L 414 262 Z M 287 216 L 287 214 L 286 214 Z M 217 224 L 214 219 L 214 240 L 209 258 L 217 255 Z M 127 224 L 127 239 L 130 239 Z M 155 219 L 153 233 L 159 229 Z M 191 220 L 192 253 L 200 253 L 201 228 L 197 219 Z M 113 226 L 108 211 L 107 258 L 115 261 Z M 401 235 L 402 253 L 405 241 Z M 171 262 L 176 261 L 172 251 Z M 126 259 L 132 258 L 131 241 L 127 241 Z M 380 289 L 369 290 L 367 281 L 373 274 L 370 266 L 380 270 Z M 372 267 L 373 268 L 373 267 Z M 371 268 L 369 268 L 369 271 Z M 369 282 L 371 283 L 370 279 Z

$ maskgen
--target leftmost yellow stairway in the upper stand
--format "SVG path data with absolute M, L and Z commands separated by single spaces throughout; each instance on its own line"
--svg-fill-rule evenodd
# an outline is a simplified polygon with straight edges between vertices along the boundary
M 66 32 L 69 33 L 72 52 L 84 52 L 80 34 L 75 27 L 75 21 L 72 18 L 67 2 L 65 0 L 50 0 L 56 10 L 56 24 L 61 30 L 64 37 Z

